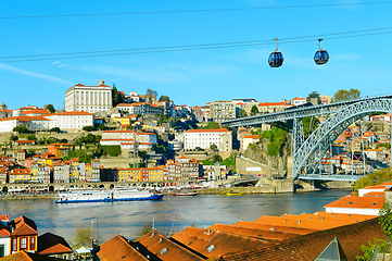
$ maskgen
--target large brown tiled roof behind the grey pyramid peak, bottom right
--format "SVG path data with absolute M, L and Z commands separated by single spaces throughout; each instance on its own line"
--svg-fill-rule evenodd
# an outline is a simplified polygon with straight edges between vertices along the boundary
M 299 236 L 283 240 L 280 244 L 267 245 L 264 248 L 225 254 L 219 260 L 315 260 L 334 237 L 341 244 L 347 260 L 356 260 L 356 256 L 363 256 L 361 246 L 367 245 L 369 240 L 372 241 L 374 238 L 385 239 L 378 224 L 378 219 L 375 217 L 351 225 Z

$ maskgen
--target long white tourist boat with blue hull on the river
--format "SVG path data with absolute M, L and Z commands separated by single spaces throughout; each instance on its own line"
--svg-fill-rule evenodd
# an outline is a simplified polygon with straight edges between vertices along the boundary
M 149 190 L 124 189 L 124 190 L 73 190 L 62 191 L 56 195 L 56 203 L 77 202 L 113 202 L 134 200 L 160 200 L 162 194 L 154 194 Z

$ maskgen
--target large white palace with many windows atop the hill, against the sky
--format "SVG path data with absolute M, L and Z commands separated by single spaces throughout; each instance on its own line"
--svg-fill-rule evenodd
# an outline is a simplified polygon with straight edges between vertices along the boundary
M 65 91 L 65 111 L 109 112 L 112 88 L 101 79 L 97 86 L 77 84 Z

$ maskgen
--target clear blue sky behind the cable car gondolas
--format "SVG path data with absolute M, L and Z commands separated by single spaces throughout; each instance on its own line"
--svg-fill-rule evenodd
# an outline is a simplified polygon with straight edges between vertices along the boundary
M 365 1 L 362 1 L 365 2 Z M 366 2 L 376 2 L 368 0 Z M 0 17 L 53 14 L 122 13 L 169 10 L 261 8 L 359 0 L 0 0 Z M 392 34 L 328 39 L 325 34 L 392 26 L 392 3 L 229 12 L 137 14 L 50 18 L 0 18 L 0 102 L 9 109 L 52 103 L 63 108 L 75 84 L 116 85 L 125 92 L 147 88 L 176 104 L 254 98 L 279 101 L 312 91 L 332 96 L 357 88 L 363 96 L 390 94 Z M 389 32 L 392 32 L 391 29 Z M 280 44 L 286 61 L 266 62 L 276 45 L 131 55 L 2 62 L 4 57 L 37 55 L 214 42 L 273 40 L 315 35 L 314 41 Z M 313 61 L 321 47 L 328 64 Z

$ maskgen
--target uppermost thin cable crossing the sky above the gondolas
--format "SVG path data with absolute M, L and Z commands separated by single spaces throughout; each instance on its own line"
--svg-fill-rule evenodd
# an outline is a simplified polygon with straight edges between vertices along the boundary
M 252 10 L 270 10 L 270 9 L 301 9 L 301 8 L 328 8 L 328 7 L 345 7 L 345 5 L 369 5 L 369 4 L 385 4 L 385 3 L 387 3 L 387 4 L 388 4 L 388 3 L 392 3 L 392 1 L 352 2 L 352 3 L 323 3 L 323 4 L 283 5 L 283 7 L 262 7 L 262 8 L 232 8 L 232 9 L 199 9 L 199 10 L 143 11 L 143 12 L 125 12 L 125 13 L 23 15 L 23 16 L 0 16 L 0 20 L 13 20 L 13 18 L 53 18 L 53 17 L 78 17 L 78 16 L 108 16 L 108 15 L 173 14 L 173 13 L 201 13 L 201 12 L 228 12 L 228 11 L 252 11 Z

